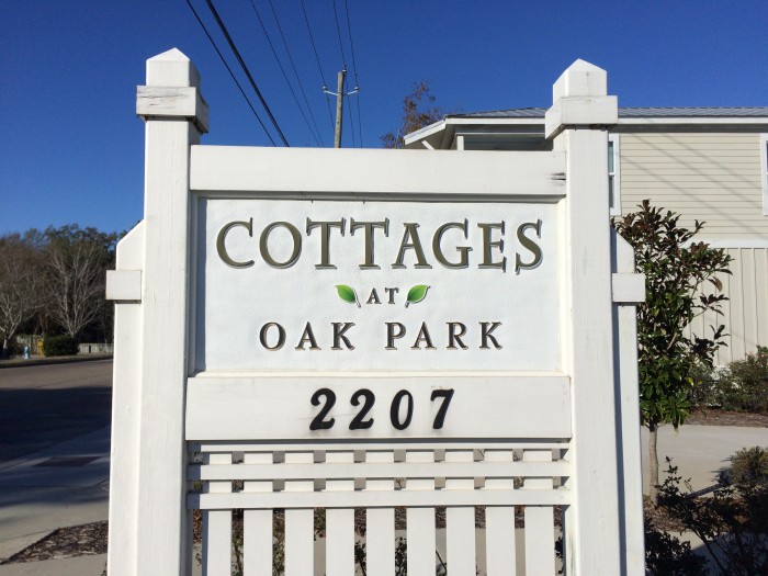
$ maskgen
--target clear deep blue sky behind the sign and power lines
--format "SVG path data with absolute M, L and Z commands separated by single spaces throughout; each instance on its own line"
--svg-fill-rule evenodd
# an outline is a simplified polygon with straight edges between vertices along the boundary
M 266 121 L 205 1 L 191 1 Z M 268 0 L 253 3 L 293 78 Z M 342 57 L 334 0 L 304 3 L 321 74 L 335 87 Z M 214 4 L 291 145 L 315 146 L 250 0 Z M 302 4 L 272 4 L 329 146 Z M 379 147 L 379 137 L 397 128 L 403 97 L 416 81 L 427 80 L 447 112 L 546 106 L 552 82 L 577 58 L 608 70 L 609 91 L 623 106 L 768 105 L 765 1 L 336 0 L 352 71 L 345 4 L 361 87 L 348 105 L 355 140 L 347 122 L 345 146 Z M 0 2 L 0 235 L 68 223 L 122 230 L 142 218 L 136 86 L 145 60 L 171 47 L 203 79 L 211 106 L 203 144 L 269 146 L 185 0 Z

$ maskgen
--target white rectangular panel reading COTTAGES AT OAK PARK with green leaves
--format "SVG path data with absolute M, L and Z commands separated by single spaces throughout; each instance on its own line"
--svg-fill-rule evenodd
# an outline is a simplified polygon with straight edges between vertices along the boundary
M 196 371 L 558 370 L 554 204 L 201 197 Z

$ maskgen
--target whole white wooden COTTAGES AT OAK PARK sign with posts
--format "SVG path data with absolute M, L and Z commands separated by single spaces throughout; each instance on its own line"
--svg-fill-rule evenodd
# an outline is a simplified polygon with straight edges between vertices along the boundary
M 568 574 L 642 574 L 639 281 L 611 248 L 605 71 L 564 72 L 537 153 L 200 146 L 199 86 L 170 50 L 138 91 L 110 574 L 189 574 L 201 509 L 204 574 L 229 574 L 238 537 L 246 574 L 351 576 L 362 550 L 392 575 L 399 506 L 409 574 L 434 574 L 443 506 L 449 574 L 554 574 L 555 506 Z

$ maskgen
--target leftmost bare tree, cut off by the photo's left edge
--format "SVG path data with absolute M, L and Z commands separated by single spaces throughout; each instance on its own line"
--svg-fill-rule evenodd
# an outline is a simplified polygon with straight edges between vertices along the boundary
M 35 250 L 18 235 L 0 238 L 0 334 L 7 355 L 9 341 L 39 304 L 41 276 Z

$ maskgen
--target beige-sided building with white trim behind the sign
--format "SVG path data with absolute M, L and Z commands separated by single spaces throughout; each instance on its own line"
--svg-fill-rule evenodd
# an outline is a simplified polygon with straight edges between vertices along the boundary
M 406 148 L 546 149 L 545 109 L 449 115 L 406 136 Z M 722 278 L 727 348 L 718 364 L 768 346 L 768 108 L 626 108 L 610 128 L 611 215 L 645 199 L 677 212 L 682 226 L 705 222 L 698 240 L 733 257 Z

